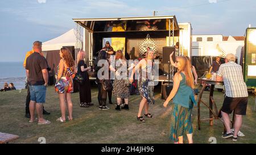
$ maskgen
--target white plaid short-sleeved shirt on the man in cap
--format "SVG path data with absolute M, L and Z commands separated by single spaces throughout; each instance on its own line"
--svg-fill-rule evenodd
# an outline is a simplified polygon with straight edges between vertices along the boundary
M 243 81 L 241 65 L 232 61 L 226 64 L 221 64 L 217 75 L 223 77 L 225 94 L 227 97 L 248 97 L 247 86 Z

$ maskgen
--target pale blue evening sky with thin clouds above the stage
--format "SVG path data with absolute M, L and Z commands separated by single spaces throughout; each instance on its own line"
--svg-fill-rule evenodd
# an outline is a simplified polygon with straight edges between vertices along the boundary
M 175 15 L 194 35 L 243 36 L 256 27 L 255 0 L 1 0 L 0 62 L 23 61 L 35 40 L 75 28 L 72 18 Z

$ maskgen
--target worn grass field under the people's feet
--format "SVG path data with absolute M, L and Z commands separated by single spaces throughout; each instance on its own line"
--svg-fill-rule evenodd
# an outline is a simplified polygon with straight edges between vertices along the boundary
M 44 107 L 51 115 L 44 115 L 51 120 L 51 124 L 38 125 L 29 123 L 24 118 L 25 100 L 27 90 L 7 91 L 0 93 L 0 132 L 19 135 L 19 139 L 11 143 L 39 143 L 39 137 L 45 137 L 46 143 L 172 143 L 169 139 L 171 104 L 163 107 L 160 99 L 160 86 L 155 88 L 155 104 L 150 105 L 150 113 L 155 118 L 146 118 L 146 123 L 136 119 L 139 95 L 132 95 L 129 100 L 130 110 L 115 111 L 114 104 L 107 104 L 110 110 L 98 110 L 97 88 L 92 87 L 92 100 L 94 106 L 81 108 L 79 106 L 79 93 L 72 94 L 73 117 L 72 122 L 60 123 L 56 119 L 60 117 L 59 98 L 53 86 L 47 87 L 46 104 Z M 209 91 L 203 94 L 205 101 L 209 99 Z M 220 108 L 224 94 L 214 91 L 214 100 Z M 116 99 L 112 98 L 113 103 Z M 209 121 L 201 122 L 201 130 L 197 129 L 197 107 L 192 113 L 193 140 L 194 143 L 210 143 L 209 138 L 215 137 L 217 143 L 256 143 L 256 112 L 254 108 L 254 96 L 250 94 L 247 106 L 247 115 L 243 118 L 241 131 L 245 137 L 238 137 L 237 142 L 232 139 L 222 139 L 223 124 L 220 120 L 214 120 L 213 126 Z M 201 104 L 201 119 L 209 116 L 209 110 Z M 231 117 L 231 115 L 230 115 Z M 187 143 L 187 137 L 184 137 Z

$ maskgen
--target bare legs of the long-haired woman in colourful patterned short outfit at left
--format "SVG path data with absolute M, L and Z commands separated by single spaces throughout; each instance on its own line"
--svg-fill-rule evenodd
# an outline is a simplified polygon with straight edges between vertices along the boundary
M 72 112 L 73 112 L 73 104 L 71 101 L 71 93 L 59 93 L 60 98 L 60 111 L 61 111 L 61 119 L 63 121 L 66 120 L 65 112 L 66 112 L 66 104 L 65 101 L 67 100 L 68 105 L 68 118 L 69 120 L 73 119 Z

